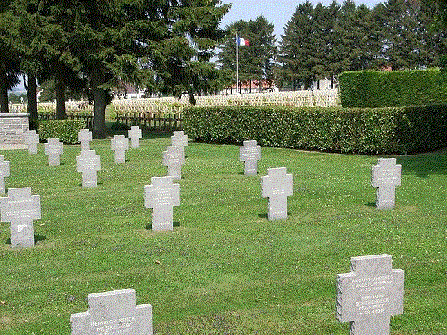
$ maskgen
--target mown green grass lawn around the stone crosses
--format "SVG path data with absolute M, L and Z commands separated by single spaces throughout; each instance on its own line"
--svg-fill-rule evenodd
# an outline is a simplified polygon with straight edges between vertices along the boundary
M 61 166 L 3 151 L 6 188 L 41 197 L 35 247 L 12 250 L 0 225 L 0 334 L 70 334 L 70 314 L 89 293 L 133 288 L 152 304 L 156 334 L 337 334 L 335 279 L 350 257 L 387 253 L 405 271 L 404 314 L 391 333 L 447 334 L 447 154 L 398 157 L 402 185 L 392 211 L 375 209 L 377 156 L 263 147 L 258 176 L 243 175 L 238 146 L 190 143 L 174 229 L 146 229 L 143 188 L 164 176 L 168 135 L 143 138 L 114 163 L 110 140 L 97 188 L 82 188 L 80 146 L 64 146 Z M 260 179 L 270 167 L 294 176 L 289 218 L 268 222 Z M 132 334 L 137 335 L 137 334 Z

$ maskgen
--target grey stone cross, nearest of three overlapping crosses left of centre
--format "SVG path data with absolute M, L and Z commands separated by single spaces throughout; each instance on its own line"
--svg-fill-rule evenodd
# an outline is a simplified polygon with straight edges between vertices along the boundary
M 180 185 L 173 177 L 152 177 L 152 185 L 144 187 L 146 208 L 153 208 L 152 230 L 173 230 L 173 206 L 180 205 Z

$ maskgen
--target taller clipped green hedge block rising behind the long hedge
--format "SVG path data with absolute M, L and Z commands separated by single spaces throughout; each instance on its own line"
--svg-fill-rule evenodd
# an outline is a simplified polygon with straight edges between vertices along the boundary
M 447 104 L 439 69 L 348 71 L 338 77 L 343 107 L 396 107 Z

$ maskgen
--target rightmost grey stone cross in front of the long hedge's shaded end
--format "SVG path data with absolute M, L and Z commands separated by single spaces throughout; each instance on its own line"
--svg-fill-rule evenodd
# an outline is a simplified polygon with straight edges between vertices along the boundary
M 395 203 L 396 186 L 401 185 L 402 165 L 395 158 L 379 158 L 373 166 L 371 185 L 377 188 L 377 209 L 392 209 Z

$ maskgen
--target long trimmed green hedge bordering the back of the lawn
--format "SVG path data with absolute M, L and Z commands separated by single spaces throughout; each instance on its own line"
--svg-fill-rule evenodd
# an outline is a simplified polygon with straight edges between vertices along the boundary
M 183 129 L 196 141 L 355 154 L 409 154 L 445 147 L 447 105 L 380 109 L 191 107 Z

